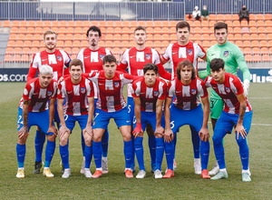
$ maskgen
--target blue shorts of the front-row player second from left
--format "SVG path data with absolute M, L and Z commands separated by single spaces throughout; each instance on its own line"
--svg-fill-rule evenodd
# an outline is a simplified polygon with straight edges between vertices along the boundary
M 66 127 L 69 128 L 72 133 L 75 122 L 78 122 L 82 130 L 86 127 L 88 122 L 88 115 L 64 115 L 64 120 Z

